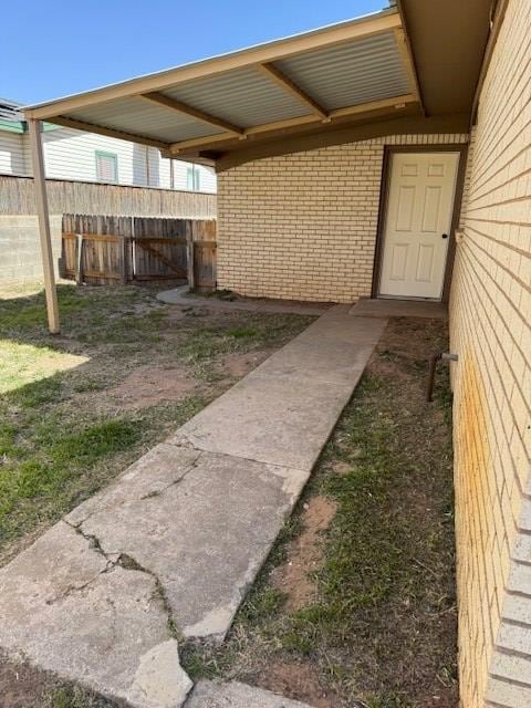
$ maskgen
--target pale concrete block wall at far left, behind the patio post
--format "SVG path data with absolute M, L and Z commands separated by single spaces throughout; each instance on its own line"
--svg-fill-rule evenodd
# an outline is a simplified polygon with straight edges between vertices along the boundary
M 61 256 L 61 225 L 62 215 L 50 216 L 55 275 Z M 0 285 L 42 280 L 37 216 L 0 215 Z

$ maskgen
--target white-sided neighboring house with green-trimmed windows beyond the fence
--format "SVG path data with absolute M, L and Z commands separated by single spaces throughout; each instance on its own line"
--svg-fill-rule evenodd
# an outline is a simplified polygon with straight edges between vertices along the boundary
M 43 124 L 46 177 L 216 192 L 211 167 L 160 156 L 160 150 L 115 137 Z M 28 128 L 20 104 L 0 98 L 0 175 L 31 175 Z

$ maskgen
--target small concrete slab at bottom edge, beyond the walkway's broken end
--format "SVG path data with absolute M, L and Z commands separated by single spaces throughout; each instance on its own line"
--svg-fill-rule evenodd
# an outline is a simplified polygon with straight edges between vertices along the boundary
M 299 700 L 290 700 L 263 688 L 238 681 L 199 681 L 186 708 L 312 708 Z

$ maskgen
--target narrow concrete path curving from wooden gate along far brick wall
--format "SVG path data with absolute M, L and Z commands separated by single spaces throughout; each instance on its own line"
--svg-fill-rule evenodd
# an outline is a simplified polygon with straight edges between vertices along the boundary
M 157 300 L 168 305 L 181 308 L 208 308 L 209 310 L 269 312 L 272 314 L 316 314 L 321 315 L 331 308 L 322 302 L 290 302 L 283 300 L 258 300 L 252 298 L 236 298 L 221 300 L 216 296 L 194 295 L 188 285 L 179 285 L 173 290 L 164 290 L 157 294 Z

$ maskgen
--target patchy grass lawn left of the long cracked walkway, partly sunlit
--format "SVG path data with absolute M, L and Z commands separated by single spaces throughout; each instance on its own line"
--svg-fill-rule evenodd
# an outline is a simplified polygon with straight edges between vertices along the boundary
M 0 293 L 0 565 L 314 320 L 156 291 L 60 285 L 55 337 L 42 292 Z M 51 685 L 0 663 L 2 708 L 108 705 Z

